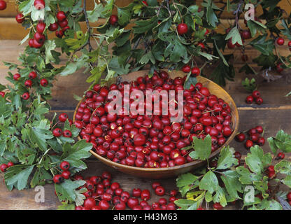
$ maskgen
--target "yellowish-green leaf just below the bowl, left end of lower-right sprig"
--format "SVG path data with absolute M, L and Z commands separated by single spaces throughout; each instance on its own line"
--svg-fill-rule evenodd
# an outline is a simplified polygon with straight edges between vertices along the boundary
M 182 174 L 176 179 L 176 186 L 179 188 L 182 197 L 184 197 L 189 190 L 196 188 L 198 184 L 198 177 L 190 173 Z

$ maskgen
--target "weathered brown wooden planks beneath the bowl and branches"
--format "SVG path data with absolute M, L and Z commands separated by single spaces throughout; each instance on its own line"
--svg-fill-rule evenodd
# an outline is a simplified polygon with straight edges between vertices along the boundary
M 17 55 L 23 50 L 23 46 L 17 46 L 17 41 L 0 41 L 0 61 L 6 60 L 10 62 L 17 62 Z M 249 55 L 253 58 L 253 55 Z M 0 83 L 6 83 L 4 77 L 6 76 L 7 69 L 0 62 Z M 72 76 L 59 77 L 55 81 L 55 86 L 52 89 L 53 100 L 50 102 L 52 105 L 52 113 L 61 113 L 66 111 L 72 118 L 73 109 L 77 102 L 73 99 L 73 94 L 82 95 L 89 86 L 85 83 L 85 76 L 82 72 L 78 72 Z M 264 104 L 257 106 L 256 104 L 247 105 L 244 99 L 248 93 L 241 87 L 241 80 L 247 76 L 243 73 L 238 74 L 235 83 L 229 82 L 225 89 L 233 97 L 239 109 L 240 126 L 239 131 L 248 130 L 251 127 L 262 125 L 265 127 L 264 137 L 271 137 L 276 134 L 280 129 L 285 132 L 291 133 L 291 98 L 284 97 L 284 95 L 291 90 L 290 83 L 285 79 L 276 80 L 274 83 L 263 83 L 263 80 L 258 80 L 262 84 L 259 90 L 264 99 Z M 249 76 L 248 76 L 249 77 Z M 78 83 L 78 85 L 76 85 Z M 246 155 L 247 150 L 243 144 L 232 141 L 230 146 L 236 148 L 243 155 Z M 264 151 L 269 151 L 268 144 L 263 146 Z M 150 189 L 151 180 L 139 179 L 127 174 L 116 172 L 115 170 L 106 167 L 97 161 L 95 158 L 90 158 L 87 162 L 89 169 L 83 174 L 84 176 L 92 174 L 101 174 L 102 171 L 108 170 L 113 173 L 113 180 L 118 181 L 122 188 L 131 191 L 134 187 Z M 161 180 L 166 190 L 171 190 L 175 187 L 175 179 Z M 36 192 L 31 190 L 9 192 L 2 181 L 0 181 L 0 209 L 56 209 L 60 203 L 54 194 L 54 187 L 52 185 L 45 186 L 45 203 L 38 204 L 34 202 Z M 152 200 L 157 201 L 157 197 L 152 194 Z M 227 209 L 236 209 L 236 207 L 229 206 Z

